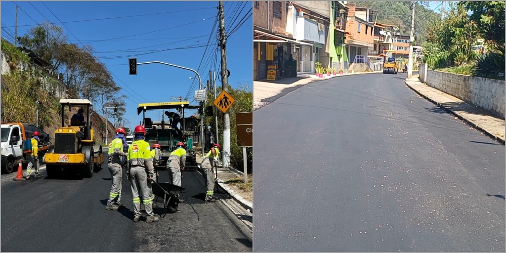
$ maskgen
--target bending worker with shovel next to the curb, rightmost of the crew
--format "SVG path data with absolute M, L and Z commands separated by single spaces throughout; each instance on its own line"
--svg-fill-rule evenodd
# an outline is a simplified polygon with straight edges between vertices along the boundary
M 200 163 L 200 172 L 205 179 L 205 202 L 215 202 L 217 197 L 215 192 L 215 179 L 213 175 L 213 167 L 218 165 L 218 154 L 220 153 L 220 144 L 213 144 L 211 150 L 204 156 Z

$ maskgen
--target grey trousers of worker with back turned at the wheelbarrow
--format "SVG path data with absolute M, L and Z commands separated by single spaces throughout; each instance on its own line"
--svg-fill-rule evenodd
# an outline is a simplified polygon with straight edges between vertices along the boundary
M 134 202 L 134 216 L 141 217 L 141 199 L 148 217 L 153 217 L 153 199 L 151 199 L 151 182 L 148 180 L 148 174 L 143 167 L 133 167 L 130 169 L 130 179 L 132 185 L 132 197 Z

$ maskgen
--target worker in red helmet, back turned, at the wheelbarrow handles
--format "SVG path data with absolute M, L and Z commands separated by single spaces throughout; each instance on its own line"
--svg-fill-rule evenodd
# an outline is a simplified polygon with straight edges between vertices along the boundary
M 153 214 L 153 199 L 151 182 L 154 182 L 153 159 L 149 144 L 144 141 L 146 130 L 144 126 L 135 127 L 134 142 L 130 144 L 127 159 L 129 162 L 128 180 L 131 180 L 134 202 L 134 222 L 141 219 L 141 199 L 146 210 L 146 223 L 158 222 L 159 218 Z

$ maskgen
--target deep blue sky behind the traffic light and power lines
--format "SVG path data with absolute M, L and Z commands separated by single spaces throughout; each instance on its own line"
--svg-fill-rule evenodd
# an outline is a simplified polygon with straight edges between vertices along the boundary
M 161 64 L 138 66 L 138 75 L 129 75 L 129 57 L 137 57 L 138 62 L 162 61 L 198 70 L 204 86 L 209 79 L 209 70 L 216 69 L 216 74 L 220 75 L 220 51 L 216 46 L 219 23 L 213 29 L 218 16 L 218 1 L 2 1 L 2 37 L 9 41 L 13 41 L 16 5 L 19 6 L 18 36 L 25 34 L 36 23 L 49 20 L 61 26 L 72 43 L 93 46 L 94 55 L 113 74 L 114 80 L 122 88 L 121 93 L 129 97 L 125 100 L 124 117 L 130 120 L 132 128 L 142 120 L 142 114 L 137 115 L 136 110 L 139 103 L 175 101 L 173 97 L 182 96 L 197 105 L 193 100 L 198 83 L 190 79 L 195 76 L 193 72 Z M 252 2 L 225 2 L 227 35 L 244 16 L 249 16 L 251 7 Z M 143 16 L 116 18 L 135 15 Z M 104 18 L 108 19 L 83 21 Z M 231 72 L 228 82 L 233 88 L 244 84 L 252 87 L 252 20 L 252 16 L 249 16 L 227 40 L 227 65 Z M 146 34 L 135 35 L 140 33 Z M 210 43 L 204 56 L 209 37 Z M 177 49 L 194 46 L 198 48 Z M 166 51 L 156 52 L 160 50 Z M 220 80 L 218 78 L 216 85 L 221 87 Z M 152 111 L 147 112 L 146 116 L 159 120 L 161 113 Z M 193 113 L 195 110 L 186 110 L 185 116 Z

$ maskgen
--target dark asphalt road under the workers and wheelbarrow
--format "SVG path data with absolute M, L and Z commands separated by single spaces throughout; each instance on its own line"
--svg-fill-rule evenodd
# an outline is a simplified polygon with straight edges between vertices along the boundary
M 167 172 L 159 174 L 159 182 L 166 182 Z M 132 221 L 125 172 L 121 202 L 126 208 L 105 209 L 111 187 L 106 164 L 90 179 L 54 180 L 41 170 L 40 179 L 15 182 L 15 175 L 2 175 L 2 251 L 252 250 L 251 231 L 226 206 L 203 202 L 204 180 L 197 172 L 183 172 L 185 202 L 178 213 L 166 214 L 159 203 L 155 214 L 166 216 L 152 224 Z

